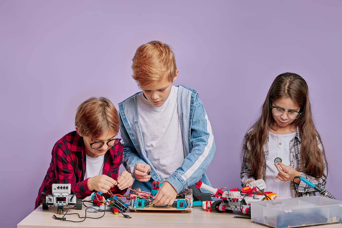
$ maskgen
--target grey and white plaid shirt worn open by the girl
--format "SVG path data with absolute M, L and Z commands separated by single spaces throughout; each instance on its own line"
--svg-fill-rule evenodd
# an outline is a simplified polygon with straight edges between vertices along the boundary
M 252 129 L 250 129 L 244 138 L 244 143 L 243 143 L 243 151 L 242 151 L 242 164 L 241 164 L 241 173 L 240 173 L 240 178 L 241 178 L 241 186 L 245 187 L 246 183 L 249 180 L 255 180 L 255 177 L 250 176 L 249 172 L 250 172 L 250 167 L 248 166 L 248 164 L 250 163 L 250 161 L 247 158 L 248 153 L 251 150 L 251 145 L 250 143 L 247 143 L 247 137 L 250 134 L 250 132 L 252 131 Z M 299 128 L 297 128 L 297 131 L 295 133 L 294 138 L 290 141 L 290 166 L 292 168 L 294 168 L 295 170 L 299 170 L 299 165 L 301 162 L 301 157 L 300 157 L 300 151 L 301 151 L 301 135 L 299 132 Z M 320 140 L 318 140 L 317 138 L 317 142 L 318 142 L 318 148 L 322 153 L 323 156 L 323 145 L 320 142 Z M 247 148 L 247 150 L 245 149 Z M 262 175 L 263 179 L 265 179 L 266 176 L 266 161 L 268 158 L 268 138 L 264 144 L 264 155 L 265 155 L 265 159 L 262 159 L 262 163 L 263 163 L 263 170 L 260 170 L 260 174 Z M 323 159 L 323 158 L 322 158 Z M 304 177 L 305 179 L 309 180 L 311 183 L 313 183 L 314 185 L 316 185 L 317 187 L 324 189 L 325 188 L 325 184 L 327 182 L 326 178 L 327 178 L 327 166 L 325 164 L 324 166 L 324 172 L 323 172 L 323 176 L 319 179 L 314 179 L 311 176 L 306 175 L 305 173 L 300 172 L 301 176 Z M 308 186 L 307 184 L 305 184 L 304 182 L 300 182 L 299 185 L 296 184 L 296 186 L 298 186 L 298 193 L 300 197 L 303 196 L 315 196 L 315 191 L 313 188 L 311 188 L 310 186 Z M 291 197 L 297 197 L 297 193 L 295 191 L 295 186 L 293 184 L 293 182 L 291 181 Z

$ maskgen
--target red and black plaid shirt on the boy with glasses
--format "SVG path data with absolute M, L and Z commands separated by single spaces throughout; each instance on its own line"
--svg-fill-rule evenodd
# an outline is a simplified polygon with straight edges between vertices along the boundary
M 83 151 L 83 144 L 83 137 L 80 137 L 76 131 L 66 134 L 55 143 L 51 153 L 50 167 L 38 191 L 35 209 L 43 201 L 44 197 L 41 193 L 51 194 L 54 183 L 71 184 L 71 191 L 78 193 L 77 196 L 81 199 L 91 195 L 93 191 L 90 191 L 87 185 L 89 178 L 84 180 L 86 153 Z M 115 180 L 118 178 L 119 166 L 122 163 L 122 150 L 122 144 L 118 143 L 105 153 L 104 175 Z M 126 190 L 119 190 L 117 186 L 114 186 L 116 194 L 122 195 Z

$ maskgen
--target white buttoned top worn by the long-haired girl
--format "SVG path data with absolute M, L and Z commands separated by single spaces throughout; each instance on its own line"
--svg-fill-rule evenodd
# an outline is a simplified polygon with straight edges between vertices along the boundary
M 266 161 L 266 188 L 264 191 L 272 191 L 278 194 L 277 199 L 291 198 L 290 181 L 282 182 L 278 178 L 278 170 L 274 166 L 274 159 L 281 158 L 282 164 L 290 165 L 290 141 L 293 139 L 294 133 L 286 135 L 277 135 L 269 132 L 268 134 L 268 158 Z

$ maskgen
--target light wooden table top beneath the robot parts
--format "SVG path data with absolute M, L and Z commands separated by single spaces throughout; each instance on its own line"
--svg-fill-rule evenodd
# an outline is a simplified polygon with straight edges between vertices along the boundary
M 68 213 L 77 212 L 81 216 L 84 216 L 84 207 L 82 210 L 70 209 L 66 207 Z M 24 218 L 17 228 L 61 228 L 61 227 L 87 227 L 87 228 L 166 228 L 166 227 L 238 227 L 238 228 L 266 228 L 267 226 L 251 222 L 251 220 L 233 218 L 232 213 L 213 213 L 206 212 L 201 208 L 194 208 L 192 213 L 180 212 L 180 211 L 136 211 L 129 212 L 132 218 L 124 218 L 122 214 L 114 215 L 113 212 L 106 212 L 105 216 L 100 219 L 87 218 L 84 222 L 73 223 L 63 222 L 53 219 L 53 215 L 62 217 L 62 215 L 56 214 L 56 207 L 50 207 L 49 210 L 42 210 L 42 206 L 39 206 L 26 218 Z M 99 217 L 103 212 L 87 213 L 87 216 Z M 77 215 L 66 215 L 68 220 L 81 220 Z M 315 228 L 342 228 L 340 223 L 326 224 L 318 226 L 306 226 Z

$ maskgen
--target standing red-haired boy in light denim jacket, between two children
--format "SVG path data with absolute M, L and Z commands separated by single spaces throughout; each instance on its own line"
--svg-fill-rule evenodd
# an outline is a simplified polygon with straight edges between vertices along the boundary
M 142 92 L 119 103 L 123 164 L 133 188 L 151 191 L 165 181 L 155 204 L 172 204 L 184 188 L 205 174 L 215 153 L 214 135 L 196 90 L 172 86 L 178 70 L 169 45 L 151 41 L 133 57 L 133 79 Z

